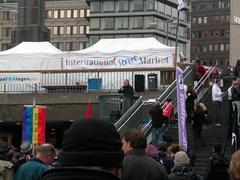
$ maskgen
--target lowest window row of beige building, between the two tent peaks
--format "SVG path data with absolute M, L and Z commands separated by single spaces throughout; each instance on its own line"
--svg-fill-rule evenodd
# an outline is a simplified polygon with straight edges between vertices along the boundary
M 52 44 L 62 51 L 77 51 L 88 47 L 87 42 L 53 42 Z

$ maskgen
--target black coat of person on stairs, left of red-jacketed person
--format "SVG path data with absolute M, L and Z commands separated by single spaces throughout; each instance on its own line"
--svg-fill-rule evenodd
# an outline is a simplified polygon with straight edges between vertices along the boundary
M 152 118 L 152 126 L 154 128 L 160 128 L 163 123 L 163 116 L 162 116 L 162 108 L 160 106 L 155 106 L 149 114 L 151 115 Z

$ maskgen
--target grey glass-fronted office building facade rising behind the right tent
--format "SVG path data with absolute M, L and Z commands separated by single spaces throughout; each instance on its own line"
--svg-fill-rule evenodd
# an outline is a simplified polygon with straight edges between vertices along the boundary
M 175 46 L 177 0 L 91 0 L 89 44 L 103 38 L 155 37 Z M 187 52 L 188 11 L 180 12 L 178 45 Z

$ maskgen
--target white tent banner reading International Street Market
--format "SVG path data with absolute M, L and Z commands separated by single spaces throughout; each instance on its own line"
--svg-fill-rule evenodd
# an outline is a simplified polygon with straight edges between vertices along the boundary
M 173 67 L 174 54 L 143 56 L 81 57 L 62 59 L 62 69 L 121 69 Z

